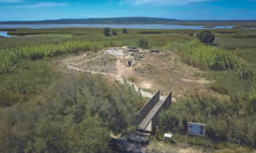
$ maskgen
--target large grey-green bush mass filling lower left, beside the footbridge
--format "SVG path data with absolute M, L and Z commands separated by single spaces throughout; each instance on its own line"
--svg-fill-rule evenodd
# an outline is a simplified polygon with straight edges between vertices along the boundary
M 134 126 L 144 101 L 133 86 L 81 74 L 0 110 L 0 152 L 110 152 L 109 130 Z

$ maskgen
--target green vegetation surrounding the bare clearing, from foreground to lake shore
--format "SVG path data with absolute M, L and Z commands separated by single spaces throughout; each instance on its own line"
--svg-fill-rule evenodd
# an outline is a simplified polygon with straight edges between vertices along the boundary
M 64 152 L 70 149 L 67 146 L 73 146 L 71 152 L 109 152 L 108 132 L 125 133 L 134 126 L 134 110 L 145 99 L 129 85 L 63 72 L 58 61 L 69 54 L 137 46 L 134 40 L 140 36 L 149 39 L 150 48 L 175 52 L 176 60 L 200 68 L 214 80 L 207 85 L 209 89 L 230 97 L 224 100 L 211 93 L 186 93 L 187 97 L 161 112 L 162 132 L 176 134 L 175 140 L 184 139 L 172 126 L 183 131 L 187 122 L 206 123 L 208 136 L 215 143 L 230 143 L 234 150 L 255 148 L 256 39 L 247 37 L 255 35 L 255 30 L 211 30 L 216 33 L 211 46 L 187 34 L 197 30 L 128 29 L 128 34 L 116 30 L 117 36 L 105 37 L 102 28 L 17 29 L 12 32 L 37 35 L 0 38 L 0 152 Z M 87 135 L 97 132 L 102 137 Z M 88 137 L 93 137 L 93 143 Z

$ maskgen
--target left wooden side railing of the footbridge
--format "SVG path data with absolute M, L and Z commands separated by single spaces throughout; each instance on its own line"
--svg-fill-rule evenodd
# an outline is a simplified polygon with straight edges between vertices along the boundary
M 136 115 L 137 125 L 139 125 L 143 121 L 145 116 L 147 116 L 148 113 L 155 106 L 155 104 L 157 104 L 159 98 L 160 98 L 160 90 L 158 90 L 158 92 L 150 99 L 150 101 L 148 101 L 147 104 L 144 105 L 143 108 L 141 108 L 141 110 Z

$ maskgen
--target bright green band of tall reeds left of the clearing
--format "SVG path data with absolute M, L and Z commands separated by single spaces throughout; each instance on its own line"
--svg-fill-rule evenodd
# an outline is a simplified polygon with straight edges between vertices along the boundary
M 106 47 L 123 46 L 122 41 L 67 41 L 59 44 L 42 44 L 40 46 L 19 46 L 17 48 L 0 50 L 0 74 L 9 73 L 15 68 L 19 59 L 31 60 L 44 57 L 54 57 L 61 54 L 77 53 L 79 51 L 99 50 Z

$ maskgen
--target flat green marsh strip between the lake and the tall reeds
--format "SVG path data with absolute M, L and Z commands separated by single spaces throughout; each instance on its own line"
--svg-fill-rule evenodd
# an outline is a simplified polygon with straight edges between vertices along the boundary
M 123 34 L 122 29 L 116 29 L 116 31 L 118 32 L 117 36 L 105 37 L 102 34 L 102 28 L 50 28 L 50 29 L 17 28 L 16 31 L 9 31 L 9 34 L 13 34 L 13 35 L 48 34 L 48 35 L 41 35 L 43 37 L 0 38 L 0 49 L 16 48 L 16 46 L 20 46 L 20 45 L 42 45 L 43 43 L 58 44 L 59 42 L 84 40 L 84 39 L 88 41 L 122 40 L 123 42 L 125 42 L 125 45 L 134 46 L 136 45 L 134 40 L 139 36 L 143 36 L 149 39 L 150 48 L 159 48 L 167 45 L 168 42 L 184 42 L 184 41 L 193 40 L 194 37 L 189 37 L 189 35 L 187 34 L 189 32 L 194 32 L 194 33 L 197 32 L 197 30 L 127 29 L 128 34 Z M 143 32 L 148 33 L 149 31 L 161 32 L 162 34 L 141 34 Z M 246 29 L 214 29 L 211 31 L 216 34 L 220 34 L 218 36 L 222 36 L 222 37 L 225 36 L 230 38 L 234 38 L 234 37 L 247 38 L 250 35 L 256 35 L 255 30 L 246 30 Z M 65 34 L 65 35 L 54 35 L 54 34 Z M 236 35 L 233 35 L 233 34 L 236 34 Z M 70 35 L 72 35 L 72 37 L 70 37 Z

